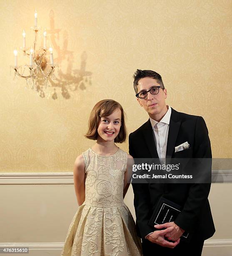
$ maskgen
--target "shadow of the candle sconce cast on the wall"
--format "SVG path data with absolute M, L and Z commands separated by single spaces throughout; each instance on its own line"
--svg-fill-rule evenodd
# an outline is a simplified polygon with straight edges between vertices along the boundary
M 54 59 L 56 63 L 59 65 L 63 61 L 67 61 L 67 69 L 63 71 L 61 68 L 56 74 L 56 76 L 52 75 L 48 78 L 50 83 L 51 92 L 47 92 L 48 88 L 45 88 L 45 84 L 42 79 L 37 79 L 36 88 L 40 97 L 52 97 L 52 99 L 56 100 L 58 98 L 59 93 L 57 91 L 61 91 L 62 97 L 65 99 L 69 99 L 70 97 L 75 97 L 74 92 L 79 90 L 85 90 L 87 86 L 91 85 L 91 75 L 92 72 L 86 71 L 86 61 L 87 61 L 87 53 L 84 51 L 81 54 L 80 61 L 75 61 L 80 63 L 79 69 L 74 69 L 74 56 L 73 51 L 68 50 L 68 32 L 65 30 L 62 33 L 60 28 L 55 28 L 55 20 L 54 20 L 54 11 L 50 11 L 50 28 L 47 28 L 47 35 L 50 37 L 50 42 L 52 44 L 53 49 L 57 53 L 57 58 Z M 62 46 L 57 42 L 57 39 L 60 39 L 60 33 L 62 33 L 63 43 Z M 49 93 L 49 95 L 47 95 Z

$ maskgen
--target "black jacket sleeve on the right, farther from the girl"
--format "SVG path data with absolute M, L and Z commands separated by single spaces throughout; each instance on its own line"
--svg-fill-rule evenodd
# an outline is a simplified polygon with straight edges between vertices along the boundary
M 193 146 L 193 158 L 208 158 L 210 164 L 206 166 L 204 172 L 212 172 L 212 153 L 210 138 L 207 126 L 202 117 L 197 117 L 195 126 L 195 143 Z M 211 176 L 210 176 L 211 177 Z M 196 227 L 202 208 L 207 202 L 210 193 L 211 183 L 192 184 L 183 210 L 178 215 L 175 223 L 182 229 L 191 232 Z

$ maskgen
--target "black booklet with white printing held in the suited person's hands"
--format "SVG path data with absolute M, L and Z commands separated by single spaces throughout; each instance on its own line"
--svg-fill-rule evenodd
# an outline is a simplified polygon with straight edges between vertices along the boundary
M 148 224 L 154 228 L 154 225 L 156 224 L 164 224 L 175 221 L 180 212 L 180 205 L 161 197 Z M 183 238 L 187 238 L 188 236 L 189 233 L 187 232 L 183 233 L 182 235 Z

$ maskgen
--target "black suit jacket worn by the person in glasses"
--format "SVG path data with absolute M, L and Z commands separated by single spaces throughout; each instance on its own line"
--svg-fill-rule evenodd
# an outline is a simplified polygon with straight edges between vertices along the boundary
M 184 142 L 190 148 L 175 153 Z M 129 153 L 133 158 L 159 158 L 150 120 L 129 136 Z M 212 158 L 205 121 L 172 109 L 167 139 L 166 158 Z M 211 170 L 211 166 L 210 170 Z M 144 238 L 155 230 L 148 225 L 160 197 L 182 206 L 175 223 L 203 240 L 215 233 L 208 195 L 211 184 L 138 184 L 132 183 L 138 236 Z

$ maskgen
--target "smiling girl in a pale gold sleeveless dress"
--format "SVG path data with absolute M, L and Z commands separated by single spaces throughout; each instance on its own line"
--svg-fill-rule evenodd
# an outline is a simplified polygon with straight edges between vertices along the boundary
M 73 177 L 80 207 L 62 256 L 141 255 L 134 220 L 123 202 L 130 185 L 132 156 L 115 145 L 124 142 L 126 135 L 122 106 L 115 100 L 98 102 L 85 135 L 97 142 L 75 161 Z

